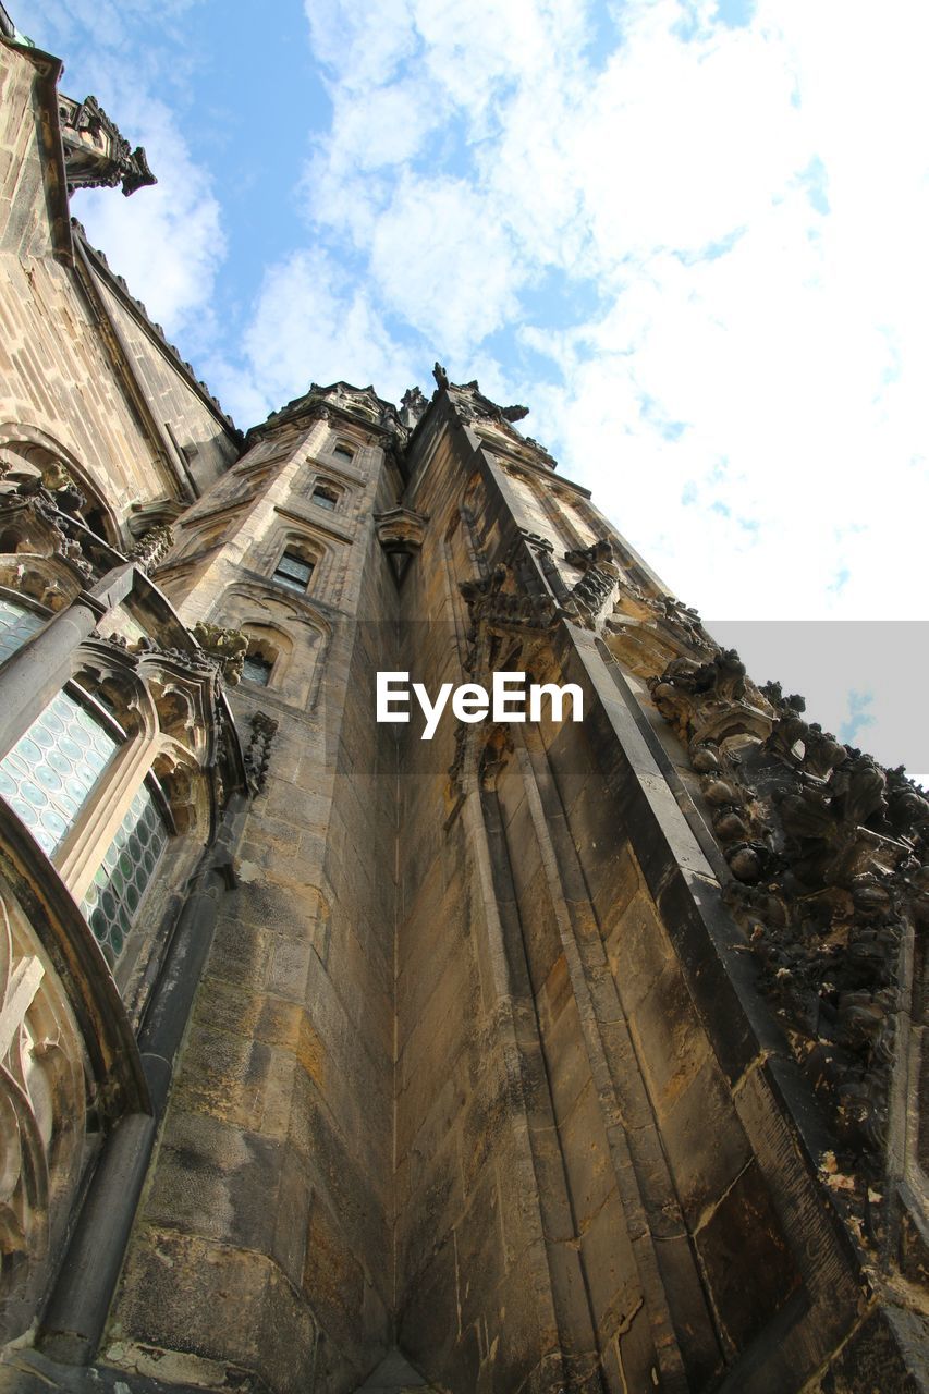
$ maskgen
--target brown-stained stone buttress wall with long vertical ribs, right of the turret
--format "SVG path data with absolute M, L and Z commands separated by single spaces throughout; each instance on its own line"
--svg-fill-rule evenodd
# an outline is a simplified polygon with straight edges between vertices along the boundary
M 400 666 L 430 691 L 572 680 L 584 722 L 403 730 L 402 1344 L 462 1391 L 798 1388 L 859 1289 L 788 1121 L 808 1096 L 647 721 L 543 599 L 541 562 L 576 585 L 565 542 L 597 516 L 520 467 L 520 531 L 512 466 L 434 410 Z

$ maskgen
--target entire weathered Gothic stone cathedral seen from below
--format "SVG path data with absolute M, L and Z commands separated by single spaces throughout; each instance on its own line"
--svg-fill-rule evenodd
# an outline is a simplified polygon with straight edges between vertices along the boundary
M 0 8 L 0 1394 L 925 1394 L 923 792 L 477 382 L 236 429 L 60 71 Z

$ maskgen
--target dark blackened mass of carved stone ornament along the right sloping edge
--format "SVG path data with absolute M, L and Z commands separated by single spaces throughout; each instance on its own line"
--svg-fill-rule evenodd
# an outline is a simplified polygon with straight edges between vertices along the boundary
M 682 644 L 693 638 L 677 606 L 665 618 Z M 911 991 L 901 945 L 929 923 L 929 799 L 806 722 L 801 697 L 755 687 L 732 650 L 675 658 L 649 687 L 700 778 L 759 986 L 834 1129 L 841 1192 L 824 1179 L 855 1235 L 877 1243 L 891 1065 L 905 1048 L 896 1022 Z

